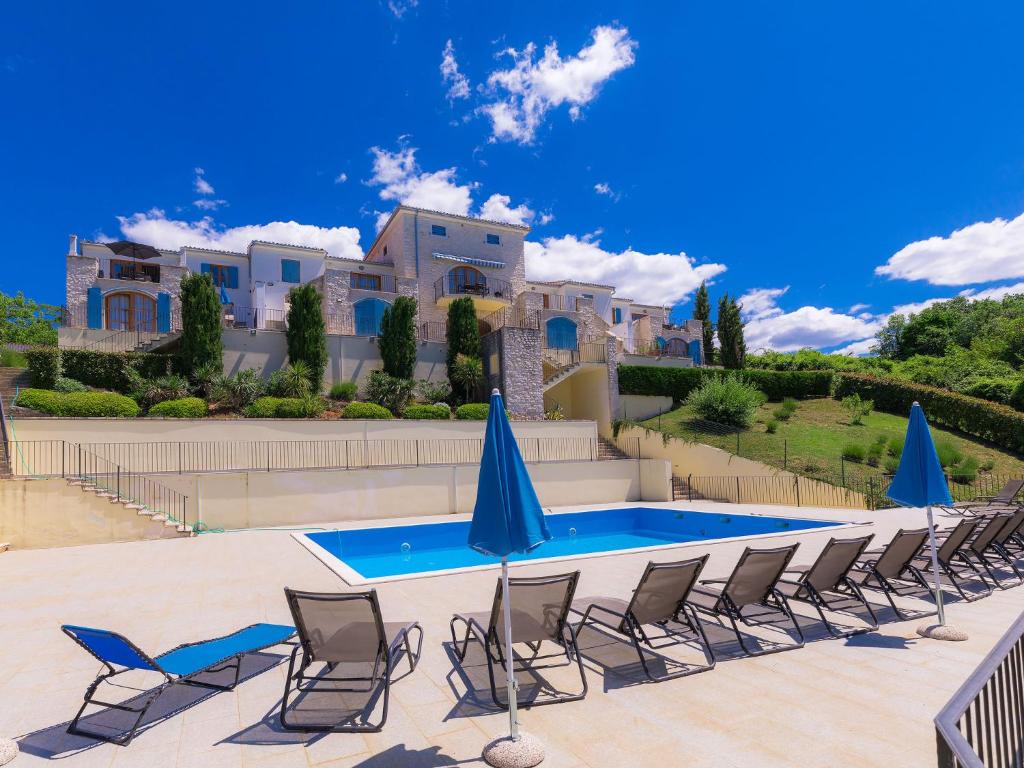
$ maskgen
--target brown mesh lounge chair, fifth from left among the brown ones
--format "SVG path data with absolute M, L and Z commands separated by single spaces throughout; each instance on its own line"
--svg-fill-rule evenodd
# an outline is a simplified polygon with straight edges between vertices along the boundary
M 874 538 L 873 534 L 858 539 L 829 539 L 817 559 L 808 567 L 788 568 L 785 572 L 793 573 L 796 579 L 786 579 L 783 574 L 778 583 L 778 591 L 790 600 L 810 603 L 818 611 L 821 622 L 828 634 L 843 638 L 873 632 L 879 628 L 879 620 L 871 609 L 870 603 L 864 599 L 860 588 L 850 578 L 850 570 L 857 562 L 867 545 Z M 825 616 L 825 611 L 849 610 L 850 602 L 863 606 L 870 616 L 867 627 L 843 631 L 837 628 Z

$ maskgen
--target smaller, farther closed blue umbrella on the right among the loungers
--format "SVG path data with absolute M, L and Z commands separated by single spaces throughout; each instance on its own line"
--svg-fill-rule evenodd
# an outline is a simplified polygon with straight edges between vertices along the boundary
M 951 505 L 952 498 L 949 496 L 949 485 L 942 471 L 939 455 L 935 452 L 925 412 L 918 402 L 910 408 L 910 422 L 906 426 L 899 469 L 896 470 L 886 496 L 907 507 L 928 508 L 928 539 L 932 548 L 932 573 L 935 575 L 935 605 L 938 608 L 939 625 L 945 626 L 932 505 Z

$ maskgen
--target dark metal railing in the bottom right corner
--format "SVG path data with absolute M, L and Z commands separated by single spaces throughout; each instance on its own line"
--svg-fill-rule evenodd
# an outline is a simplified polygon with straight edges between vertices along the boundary
M 1024 613 L 935 718 L 939 768 L 1024 765 Z

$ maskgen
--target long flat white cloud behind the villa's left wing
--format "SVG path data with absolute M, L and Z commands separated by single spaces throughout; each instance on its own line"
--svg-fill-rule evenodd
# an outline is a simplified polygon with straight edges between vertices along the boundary
M 354 226 L 316 226 L 296 221 L 270 221 L 266 224 L 222 227 L 210 216 L 204 216 L 199 221 L 169 219 L 159 208 L 131 216 L 118 216 L 118 221 L 121 222 L 121 233 L 127 240 L 168 250 L 196 246 L 222 251 L 245 251 L 250 242 L 265 240 L 323 248 L 332 256 L 362 258 L 359 230 Z

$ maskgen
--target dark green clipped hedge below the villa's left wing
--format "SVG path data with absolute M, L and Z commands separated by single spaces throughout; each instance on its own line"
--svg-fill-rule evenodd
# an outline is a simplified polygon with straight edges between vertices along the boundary
M 29 373 L 32 386 L 51 389 L 61 374 L 100 389 L 128 392 L 132 386 L 129 369 L 143 379 L 157 379 L 171 373 L 170 354 L 150 352 L 100 352 L 95 349 L 30 349 Z

